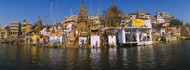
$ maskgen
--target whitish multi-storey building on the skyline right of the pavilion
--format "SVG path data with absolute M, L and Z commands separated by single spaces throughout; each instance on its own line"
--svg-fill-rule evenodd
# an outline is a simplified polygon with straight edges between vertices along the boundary
M 156 12 L 156 15 L 154 16 L 156 18 L 156 21 L 158 24 L 160 23 L 168 23 L 173 19 L 169 12 Z

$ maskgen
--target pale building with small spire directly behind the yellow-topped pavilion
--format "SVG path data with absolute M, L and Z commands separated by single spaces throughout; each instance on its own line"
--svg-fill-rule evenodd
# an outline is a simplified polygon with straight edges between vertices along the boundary
M 140 8 L 138 7 L 137 13 L 129 13 L 129 17 L 131 19 L 144 19 L 144 20 L 151 20 L 151 14 L 141 12 Z

